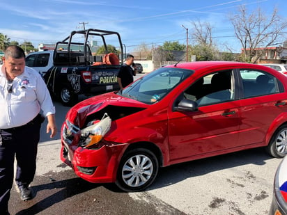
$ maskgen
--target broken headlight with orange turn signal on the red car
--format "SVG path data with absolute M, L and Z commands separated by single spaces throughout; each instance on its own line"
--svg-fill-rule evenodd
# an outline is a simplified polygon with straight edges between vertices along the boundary
M 111 128 L 111 118 L 109 118 L 107 113 L 104 113 L 100 121 L 94 121 L 91 124 L 92 125 L 82 129 L 79 146 L 86 148 L 100 143 L 103 136 L 107 134 Z

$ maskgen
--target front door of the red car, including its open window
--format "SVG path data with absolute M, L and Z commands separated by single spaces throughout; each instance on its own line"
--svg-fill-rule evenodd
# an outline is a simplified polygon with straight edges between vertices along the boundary
M 229 75 L 229 79 L 227 81 L 217 79 L 219 83 L 212 83 L 217 74 L 223 72 Z M 240 126 L 238 105 L 240 102 L 235 100 L 233 71 L 219 71 L 208 74 L 203 79 L 202 85 L 195 82 L 184 92 L 184 95 L 187 94 L 185 95 L 187 99 L 194 99 L 199 103 L 198 111 L 171 111 L 169 113 L 171 163 L 176 163 L 178 159 L 184 161 L 193 159 L 193 157 L 194 159 L 208 157 L 238 147 Z M 198 81 L 202 81 L 202 78 Z M 215 91 L 218 84 L 225 86 L 224 90 L 229 91 L 229 99 L 224 97 L 224 90 Z M 196 88 L 191 89 L 193 86 Z M 212 97 L 211 95 L 215 93 L 222 93 L 222 95 Z

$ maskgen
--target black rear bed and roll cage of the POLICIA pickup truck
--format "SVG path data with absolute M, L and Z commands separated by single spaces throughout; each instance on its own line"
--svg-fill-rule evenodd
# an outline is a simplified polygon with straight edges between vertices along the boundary
M 99 38 L 106 54 L 95 56 L 92 51 L 97 45 L 93 42 L 99 43 Z M 120 56 L 108 53 L 107 38 L 116 43 L 113 43 L 114 47 L 119 47 Z M 65 106 L 76 104 L 78 95 L 95 95 L 119 89 L 117 74 L 123 62 L 123 45 L 117 32 L 99 29 L 72 31 L 67 38 L 56 42 L 52 59 L 53 65 L 43 78 L 51 95 L 59 98 Z

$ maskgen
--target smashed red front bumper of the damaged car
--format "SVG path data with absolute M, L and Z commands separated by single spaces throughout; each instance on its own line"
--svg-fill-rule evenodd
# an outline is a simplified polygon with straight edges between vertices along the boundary
M 82 131 L 68 120 L 64 122 L 61 160 L 88 182 L 115 182 L 116 169 L 127 144 L 111 143 L 102 138 L 99 143 L 86 148 L 81 145 Z

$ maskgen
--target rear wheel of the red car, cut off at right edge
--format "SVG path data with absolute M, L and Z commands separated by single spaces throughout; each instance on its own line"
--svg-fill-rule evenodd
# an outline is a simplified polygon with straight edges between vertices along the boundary
M 267 145 L 267 152 L 272 157 L 285 157 L 287 154 L 287 125 L 281 125 L 274 132 L 270 143 Z

